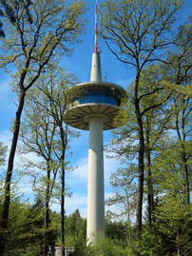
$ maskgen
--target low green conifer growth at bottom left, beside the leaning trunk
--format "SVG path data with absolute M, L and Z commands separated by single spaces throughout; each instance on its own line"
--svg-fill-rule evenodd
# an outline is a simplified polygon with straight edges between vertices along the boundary
M 0 190 L 0 213 L 2 213 L 3 193 Z M 9 231 L 5 255 L 41 254 L 43 247 L 44 211 L 40 207 L 30 206 L 28 200 L 19 191 L 19 183 L 14 179 L 11 184 Z

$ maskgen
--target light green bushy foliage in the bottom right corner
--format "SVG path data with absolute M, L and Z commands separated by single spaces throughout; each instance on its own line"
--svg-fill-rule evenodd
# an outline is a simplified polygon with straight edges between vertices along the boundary
M 162 236 L 164 253 L 192 253 L 191 206 L 183 205 L 181 194 L 170 192 L 160 200 L 155 212 L 156 228 Z M 178 254 L 177 254 L 178 255 Z

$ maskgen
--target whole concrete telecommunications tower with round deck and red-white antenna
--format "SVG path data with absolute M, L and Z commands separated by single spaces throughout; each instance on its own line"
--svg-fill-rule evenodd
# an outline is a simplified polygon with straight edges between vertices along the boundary
M 103 130 L 116 128 L 114 118 L 125 97 L 125 89 L 102 81 L 98 50 L 97 1 L 95 52 L 92 54 L 90 82 L 78 84 L 69 91 L 70 95 L 74 96 L 70 96 L 66 113 L 67 124 L 73 128 L 89 130 L 86 237 L 88 243 L 94 244 L 95 236 L 99 232 L 105 233 Z

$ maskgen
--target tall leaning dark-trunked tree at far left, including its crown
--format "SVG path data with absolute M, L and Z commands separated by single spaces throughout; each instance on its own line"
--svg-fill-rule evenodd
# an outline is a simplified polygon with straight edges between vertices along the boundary
M 9 23 L 9 16 L 5 15 L 8 32 L 7 37 L 2 39 L 4 53 L 0 56 L 1 67 L 13 64 L 16 69 L 12 85 L 18 94 L 1 220 L 3 230 L 8 227 L 10 181 L 26 94 L 43 72 L 54 69 L 60 57 L 71 52 L 71 45 L 78 42 L 78 36 L 85 29 L 82 15 L 86 11 L 85 2 L 81 0 L 68 4 L 60 0 L 34 1 L 31 8 L 33 23 L 30 24 L 23 3 L 19 2 L 18 6 L 14 3 L 9 1 L 16 20 Z M 0 255 L 4 255 L 6 241 L 3 233 L 0 241 Z

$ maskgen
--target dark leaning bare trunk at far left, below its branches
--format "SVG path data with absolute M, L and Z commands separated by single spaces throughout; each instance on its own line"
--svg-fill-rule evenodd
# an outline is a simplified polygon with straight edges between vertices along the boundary
M 11 176 L 13 171 L 13 162 L 14 162 L 14 156 L 15 156 L 16 147 L 17 147 L 17 141 L 18 141 L 19 129 L 20 129 L 20 120 L 21 120 L 21 114 L 24 108 L 25 96 L 26 96 L 26 92 L 23 89 L 20 93 L 19 106 L 17 108 L 16 117 L 14 120 L 14 129 L 13 129 L 12 142 L 10 147 L 8 170 L 6 174 L 5 194 L 4 194 L 2 219 L 1 219 L 1 233 L 0 233 L 0 255 L 1 256 L 4 255 L 5 246 L 6 246 L 6 237 L 7 237 L 6 231 L 8 229 L 9 210 L 10 210 L 10 181 L 11 181 Z

